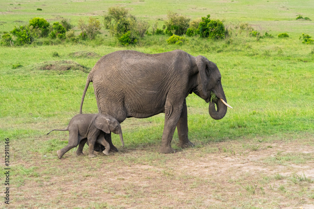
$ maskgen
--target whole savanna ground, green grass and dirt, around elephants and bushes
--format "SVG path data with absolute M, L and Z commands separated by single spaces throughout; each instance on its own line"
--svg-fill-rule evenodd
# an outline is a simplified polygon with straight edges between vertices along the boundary
M 78 43 L 44 39 L 30 45 L 0 46 L 0 141 L 2 208 L 314 208 L 314 36 L 313 1 L 19 1 L 0 2 L 0 32 L 28 24 L 34 17 L 50 24 L 99 18 L 109 7 L 162 28 L 167 12 L 223 21 L 225 39 L 186 37 L 169 45 L 168 35 L 145 35 L 122 47 L 102 27 L 95 40 Z M 41 8 L 42 10 L 37 10 Z M 261 34 L 252 37 L 239 25 Z M 151 31 L 151 27 L 148 29 Z M 279 38 L 287 33 L 289 37 Z M 65 128 L 79 112 L 86 77 L 97 60 L 116 50 L 161 53 L 175 49 L 204 55 L 217 64 L 225 95 L 233 109 L 221 120 L 208 104 L 187 97 L 190 149 L 171 146 L 175 154 L 157 152 L 164 114 L 127 118 L 125 147 L 109 156 L 77 157 L 76 148 L 62 160 L 56 151 L 68 143 Z M 19 67 L 16 67 L 20 65 Z M 15 69 L 14 69 L 15 68 Z M 84 113 L 97 113 L 92 85 Z M 4 142 L 10 146 L 10 204 L 4 203 Z M 87 152 L 87 146 L 84 153 Z

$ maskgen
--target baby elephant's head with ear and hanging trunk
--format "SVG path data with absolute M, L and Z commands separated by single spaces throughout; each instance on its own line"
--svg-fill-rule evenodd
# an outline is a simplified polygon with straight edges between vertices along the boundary
M 96 128 L 105 133 L 113 132 L 115 134 L 119 134 L 122 147 L 124 147 L 121 125 L 116 118 L 113 118 L 110 115 L 98 114 L 94 120 L 94 124 Z

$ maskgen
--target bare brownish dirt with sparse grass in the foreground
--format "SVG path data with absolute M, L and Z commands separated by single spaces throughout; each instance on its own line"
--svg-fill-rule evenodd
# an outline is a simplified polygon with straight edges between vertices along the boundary
M 307 142 L 157 149 L 17 160 L 10 208 L 314 208 L 314 147 Z

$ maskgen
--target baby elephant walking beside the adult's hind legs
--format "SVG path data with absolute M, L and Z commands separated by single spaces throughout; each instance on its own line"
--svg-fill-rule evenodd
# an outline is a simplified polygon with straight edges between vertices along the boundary
M 103 153 L 108 155 L 110 151 L 110 144 L 104 138 L 103 132 L 107 134 L 110 134 L 111 132 L 119 134 L 122 147 L 124 146 L 120 123 L 110 115 L 78 114 L 70 120 L 66 129 L 53 129 L 51 131 L 69 131 L 68 145 L 57 151 L 59 159 L 61 159 L 63 154 L 68 152 L 70 149 L 77 147 L 77 145 L 78 150 L 76 151 L 76 154 L 84 155 L 83 148 L 87 141 L 89 145 L 89 157 L 95 157 L 94 145 L 96 142 L 105 146 L 106 149 Z M 47 135 L 49 133 L 47 133 Z

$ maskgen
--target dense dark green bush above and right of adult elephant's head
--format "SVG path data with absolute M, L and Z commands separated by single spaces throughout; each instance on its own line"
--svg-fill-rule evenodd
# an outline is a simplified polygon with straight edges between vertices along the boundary
M 226 30 L 224 24 L 220 20 L 211 20 L 209 17 L 209 14 L 207 17 L 202 17 L 202 21 L 199 23 L 197 33 L 203 38 L 225 38 Z

